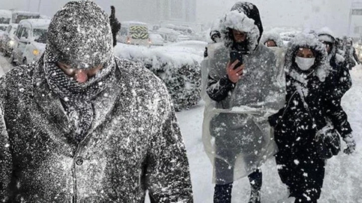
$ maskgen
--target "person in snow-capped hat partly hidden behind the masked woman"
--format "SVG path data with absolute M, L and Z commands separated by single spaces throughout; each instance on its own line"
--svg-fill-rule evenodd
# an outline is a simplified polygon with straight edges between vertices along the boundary
M 341 106 L 343 95 L 351 88 L 352 79 L 350 71 L 346 64 L 345 58 L 337 53 L 336 38 L 332 30 L 324 27 L 318 31 L 319 40 L 326 46 L 327 60 L 331 66 L 331 72 L 326 78 L 326 83 L 329 85 L 327 94 L 332 98 L 330 99 L 330 109 L 333 109 L 332 122 L 339 134 L 343 137 L 344 141 L 349 146 L 345 149 L 345 153 L 351 154 L 356 148 L 356 142 L 352 135 L 352 128 L 348 122 L 348 116 Z M 333 120 L 333 119 L 336 120 Z M 340 125 L 342 124 L 342 125 Z

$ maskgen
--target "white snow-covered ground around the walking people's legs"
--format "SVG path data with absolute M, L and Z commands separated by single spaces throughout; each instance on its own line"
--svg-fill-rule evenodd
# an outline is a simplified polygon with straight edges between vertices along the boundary
M 0 75 L 12 66 L 0 56 Z M 328 160 L 326 177 L 320 203 L 362 203 L 362 67 L 351 72 L 353 87 L 343 98 L 343 107 L 357 139 L 357 152 L 352 156 L 343 153 Z M 195 203 L 212 203 L 212 168 L 204 153 L 201 141 L 203 103 L 188 111 L 178 113 L 182 136 L 191 168 L 191 179 Z M 343 148 L 345 148 L 345 144 Z M 285 196 L 285 186 L 280 182 L 274 160 L 263 167 L 262 203 L 276 203 Z M 246 178 L 235 182 L 233 203 L 246 203 L 249 183 Z

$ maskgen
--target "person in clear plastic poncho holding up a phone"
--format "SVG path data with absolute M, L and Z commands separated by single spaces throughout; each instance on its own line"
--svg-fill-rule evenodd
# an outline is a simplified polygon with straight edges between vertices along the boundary
M 220 22 L 223 43 L 203 61 L 203 144 L 214 166 L 214 203 L 230 203 L 233 181 L 248 176 L 260 203 L 260 166 L 276 152 L 267 117 L 284 104 L 276 56 L 264 44 L 258 8 L 237 2 Z M 231 61 L 231 54 L 238 60 Z M 241 62 L 241 64 L 238 64 Z M 275 112 L 274 112 L 275 113 Z

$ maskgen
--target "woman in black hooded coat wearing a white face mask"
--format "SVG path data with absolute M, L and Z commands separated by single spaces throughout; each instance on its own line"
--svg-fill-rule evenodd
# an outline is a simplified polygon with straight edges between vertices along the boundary
M 317 36 L 301 33 L 292 39 L 285 56 L 286 105 L 269 118 L 279 148 L 278 173 L 295 203 L 317 203 L 323 186 L 325 160 L 314 139 L 329 126 L 326 64 L 327 52 Z

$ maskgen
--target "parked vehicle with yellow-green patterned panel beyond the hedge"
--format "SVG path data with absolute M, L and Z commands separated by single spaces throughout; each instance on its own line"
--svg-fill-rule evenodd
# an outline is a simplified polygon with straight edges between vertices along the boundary
M 143 46 L 151 45 L 147 23 L 125 21 L 121 24 L 121 30 L 117 37 L 118 42 Z

